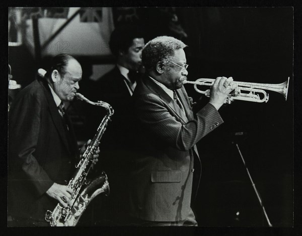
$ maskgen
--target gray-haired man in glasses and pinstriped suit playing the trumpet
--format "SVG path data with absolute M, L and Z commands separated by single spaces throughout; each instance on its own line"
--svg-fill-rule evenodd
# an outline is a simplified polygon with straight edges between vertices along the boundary
M 129 187 L 136 225 L 197 226 L 191 208 L 201 169 L 196 143 L 223 123 L 218 109 L 233 79 L 217 77 L 208 104 L 193 113 L 194 103 L 183 87 L 188 75 L 185 47 L 161 36 L 142 51 L 146 74 L 133 94 L 140 142 Z

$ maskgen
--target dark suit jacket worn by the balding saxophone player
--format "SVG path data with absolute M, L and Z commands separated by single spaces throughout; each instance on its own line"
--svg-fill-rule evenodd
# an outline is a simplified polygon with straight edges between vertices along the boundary
M 22 89 L 9 112 L 9 214 L 44 220 L 58 203 L 46 195 L 66 184 L 79 155 L 72 127 L 66 131 L 45 80 Z

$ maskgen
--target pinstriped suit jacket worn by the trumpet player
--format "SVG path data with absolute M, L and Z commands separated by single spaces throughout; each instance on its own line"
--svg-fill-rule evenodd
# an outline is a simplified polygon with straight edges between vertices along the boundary
M 143 78 L 135 88 L 138 150 L 133 157 L 129 180 L 134 217 L 178 221 L 188 215 L 193 169 L 200 169 L 195 144 L 223 123 L 211 104 L 193 114 L 192 98 L 188 97 L 185 88 L 178 89 L 177 93 L 185 114 L 149 77 Z M 194 156 L 198 166 L 193 166 Z M 197 182 L 199 178 L 198 175 Z

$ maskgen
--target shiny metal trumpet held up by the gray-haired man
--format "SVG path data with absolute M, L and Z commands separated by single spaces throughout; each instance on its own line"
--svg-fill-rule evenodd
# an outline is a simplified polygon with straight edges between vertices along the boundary
M 209 78 L 200 78 L 196 81 L 188 81 L 184 80 L 184 84 L 194 84 L 194 89 L 204 94 L 205 96 L 210 96 L 210 89 L 200 90 L 197 86 L 212 86 L 214 84 L 215 79 Z M 229 94 L 224 103 L 231 104 L 234 100 L 243 100 L 243 101 L 254 101 L 254 102 L 267 102 L 268 101 L 268 93 L 265 90 L 270 90 L 274 92 L 281 93 L 285 100 L 287 99 L 288 92 L 288 83 L 289 77 L 286 81 L 279 84 L 266 84 L 266 83 L 251 83 L 251 82 L 239 82 L 233 81 L 231 82 L 231 90 L 234 90 Z M 262 98 L 260 95 L 262 94 Z

